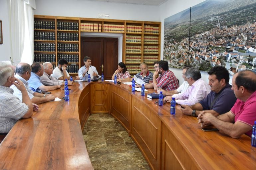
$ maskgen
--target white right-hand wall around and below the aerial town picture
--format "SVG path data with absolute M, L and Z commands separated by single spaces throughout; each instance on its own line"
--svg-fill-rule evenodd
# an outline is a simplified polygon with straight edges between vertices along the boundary
M 161 60 L 163 60 L 164 58 L 164 23 L 165 23 L 165 18 L 168 18 L 176 13 L 179 13 L 185 9 L 188 9 L 196 4 L 199 4 L 201 2 L 203 2 L 205 0 L 169 0 L 163 4 L 161 4 L 159 6 L 160 9 L 160 21 L 162 22 L 162 26 L 161 26 Z M 176 77 L 180 80 L 180 84 L 182 84 L 184 82 L 184 79 L 182 78 L 182 69 L 177 69 L 177 68 L 169 68 L 171 71 L 174 72 L 174 74 L 176 75 Z M 206 81 L 208 83 L 208 74 L 207 72 L 202 72 L 201 71 L 201 76 L 202 79 L 204 81 Z M 232 82 L 232 77 L 233 76 L 229 76 L 230 80 L 229 80 L 229 84 L 231 84 Z

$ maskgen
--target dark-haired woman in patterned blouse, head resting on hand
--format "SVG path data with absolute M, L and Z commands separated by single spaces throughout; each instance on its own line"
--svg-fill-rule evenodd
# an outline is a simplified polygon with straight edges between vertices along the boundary
M 116 75 L 117 82 L 130 82 L 131 75 L 123 62 L 117 64 L 117 70 L 112 75 L 112 80 L 114 80 Z

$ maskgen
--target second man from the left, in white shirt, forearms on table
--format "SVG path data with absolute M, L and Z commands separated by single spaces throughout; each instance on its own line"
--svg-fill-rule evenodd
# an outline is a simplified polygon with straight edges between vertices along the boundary
M 54 95 L 37 93 L 31 90 L 29 88 L 29 83 L 27 82 L 30 76 L 31 76 L 31 66 L 27 63 L 19 63 L 16 67 L 15 77 L 23 82 L 32 103 L 41 104 L 41 103 L 45 103 L 55 99 Z M 12 88 L 14 91 L 13 95 L 17 96 L 20 100 L 22 100 L 21 91 L 15 85 L 12 85 L 10 88 Z

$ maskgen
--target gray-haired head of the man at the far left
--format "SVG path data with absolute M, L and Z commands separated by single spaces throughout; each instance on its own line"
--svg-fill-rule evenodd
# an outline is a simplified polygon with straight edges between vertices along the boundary
M 7 62 L 0 62 L 0 85 L 3 86 L 9 77 L 14 74 L 11 64 Z

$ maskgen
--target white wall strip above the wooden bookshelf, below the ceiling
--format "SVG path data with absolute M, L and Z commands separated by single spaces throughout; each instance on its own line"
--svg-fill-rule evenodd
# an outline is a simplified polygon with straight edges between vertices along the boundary
M 160 21 L 159 6 L 133 5 L 86 0 L 36 0 L 35 15 L 98 18 L 109 14 L 109 19 Z

